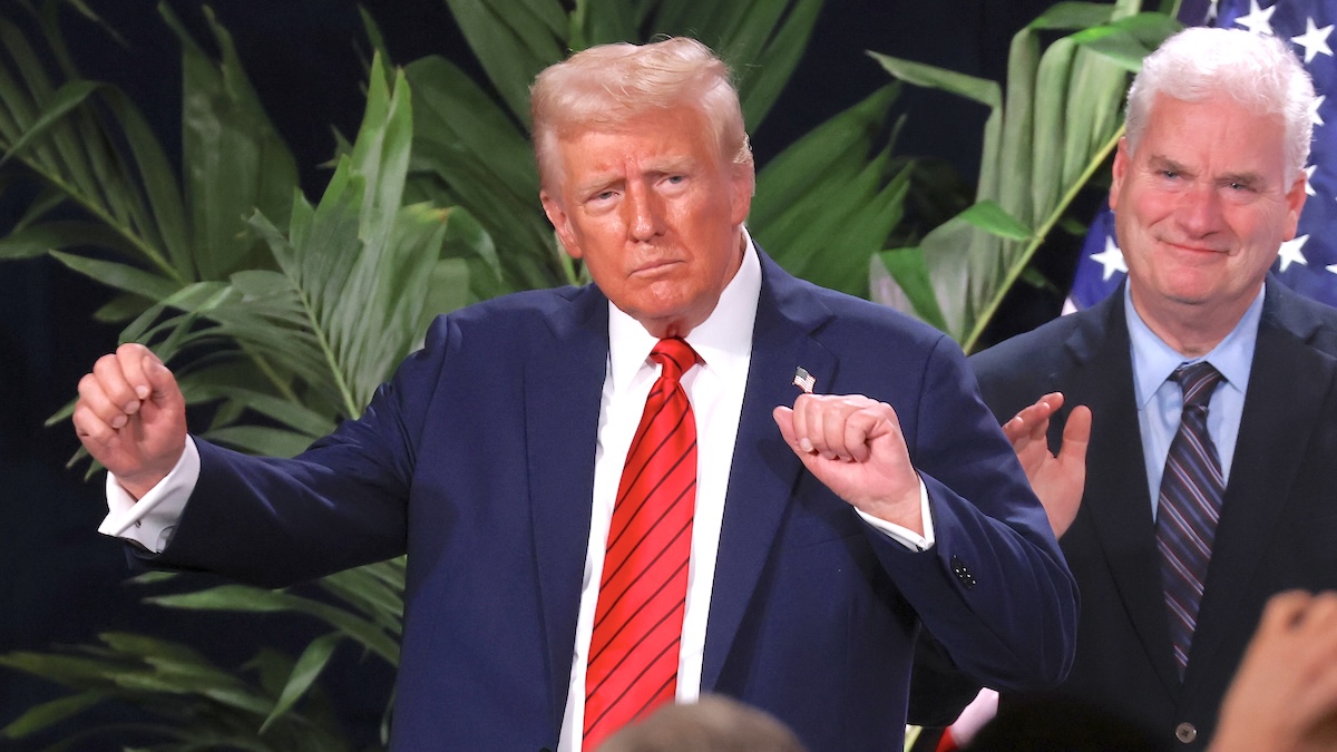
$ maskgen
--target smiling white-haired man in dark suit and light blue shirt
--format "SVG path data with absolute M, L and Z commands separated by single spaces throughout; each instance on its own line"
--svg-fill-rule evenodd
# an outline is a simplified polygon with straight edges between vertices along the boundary
M 971 359 L 999 419 L 1021 411 L 1005 431 L 1082 591 L 1062 693 L 1177 749 L 1207 748 L 1267 598 L 1337 587 L 1337 310 L 1267 278 L 1305 202 L 1313 100 L 1282 41 L 1167 40 L 1132 83 L 1114 161 L 1126 285 Z M 1179 559 L 1158 543 L 1165 480 L 1186 472 L 1167 463 L 1185 401 L 1167 377 L 1199 363 L 1223 376 L 1206 420 L 1223 495 L 1179 658 L 1186 617 L 1165 585 Z

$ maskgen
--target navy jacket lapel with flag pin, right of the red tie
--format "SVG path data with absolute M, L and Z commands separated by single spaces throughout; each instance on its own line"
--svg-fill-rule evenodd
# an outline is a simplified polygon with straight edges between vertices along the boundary
M 702 692 L 719 681 L 804 467 L 781 439 L 771 409 L 798 396 L 796 368 L 817 379 L 817 391 L 829 388 L 836 372 L 836 357 L 812 335 L 830 313 L 801 282 L 758 256 L 762 290 L 719 531 Z

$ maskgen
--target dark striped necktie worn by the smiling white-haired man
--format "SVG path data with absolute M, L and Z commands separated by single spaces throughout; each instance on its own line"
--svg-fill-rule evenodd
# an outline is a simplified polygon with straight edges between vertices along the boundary
M 1181 365 L 1170 377 L 1183 389 L 1183 413 L 1161 479 L 1157 546 L 1161 549 L 1170 640 L 1183 678 L 1226 490 L 1217 446 L 1207 435 L 1207 401 L 1222 376 L 1211 364 L 1198 361 Z

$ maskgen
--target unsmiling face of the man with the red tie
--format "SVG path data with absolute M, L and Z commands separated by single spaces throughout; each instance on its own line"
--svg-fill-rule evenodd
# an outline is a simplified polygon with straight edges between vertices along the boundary
M 705 321 L 742 264 L 751 167 L 686 106 L 560 138 L 556 155 L 543 209 L 608 300 L 656 337 Z

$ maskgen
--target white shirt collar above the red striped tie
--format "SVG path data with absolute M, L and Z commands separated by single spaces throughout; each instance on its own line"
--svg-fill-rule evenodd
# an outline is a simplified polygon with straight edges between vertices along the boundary
M 735 369 L 746 373 L 761 297 L 761 261 L 747 227 L 743 227 L 742 237 L 743 260 L 738 272 L 719 293 L 719 302 L 710 316 L 685 337 L 706 369 L 725 375 Z M 650 351 L 658 341 L 639 321 L 608 302 L 608 377 L 614 391 L 632 381 L 648 363 Z

